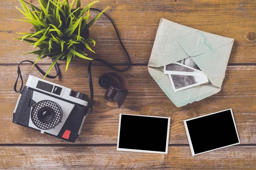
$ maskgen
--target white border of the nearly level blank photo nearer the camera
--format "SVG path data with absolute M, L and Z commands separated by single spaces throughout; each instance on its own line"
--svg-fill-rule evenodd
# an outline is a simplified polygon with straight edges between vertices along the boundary
M 120 136 L 120 127 L 121 127 L 122 115 L 143 116 L 143 117 L 154 117 L 154 118 L 168 119 L 167 135 L 166 135 L 166 151 L 165 152 L 160 152 L 160 151 L 151 151 L 151 150 L 137 150 L 137 149 L 119 148 L 119 136 Z M 170 118 L 169 117 L 144 116 L 144 115 L 134 115 L 134 114 L 119 114 L 119 126 L 118 126 L 118 138 L 117 138 L 117 149 L 116 150 L 119 150 L 119 151 L 129 151 L 129 152 L 144 152 L 144 153 L 163 153 L 163 154 L 168 154 L 169 131 L 170 131 Z

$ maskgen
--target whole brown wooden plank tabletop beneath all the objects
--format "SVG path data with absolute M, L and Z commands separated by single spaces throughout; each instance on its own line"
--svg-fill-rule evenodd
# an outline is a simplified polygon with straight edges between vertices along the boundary
M 33 0 L 38 5 L 36 0 Z M 82 0 L 82 6 L 90 0 Z M 17 64 L 34 60 L 22 54 L 32 50 L 25 42 L 13 40 L 15 32 L 31 26 L 13 19 L 22 15 L 18 0 L 0 1 L 0 169 L 256 169 L 256 1 L 255 0 L 102 0 L 94 7 L 110 8 L 107 14 L 116 24 L 131 55 L 132 67 L 124 73 L 129 95 L 122 108 L 103 99 L 105 90 L 98 78 L 111 71 L 93 64 L 94 112 L 87 116 L 76 143 L 41 134 L 12 123 L 18 94 L 13 90 Z M 95 16 L 96 12 L 91 12 Z M 226 77 L 218 94 L 177 108 L 148 73 L 147 64 L 160 18 L 213 34 L 234 38 Z M 90 28 L 96 40 L 93 48 L 100 57 L 122 67 L 125 53 L 111 23 L 101 17 Z M 47 70 L 50 61 L 40 62 Z M 90 94 L 87 64 L 75 59 L 52 82 Z M 29 74 L 42 75 L 29 64 L 21 66 L 26 82 Z M 52 71 L 52 74 L 54 72 Z M 49 80 L 49 79 L 47 79 Z M 183 125 L 184 119 L 232 108 L 241 144 L 192 156 Z M 171 118 L 168 154 L 116 151 L 119 113 Z

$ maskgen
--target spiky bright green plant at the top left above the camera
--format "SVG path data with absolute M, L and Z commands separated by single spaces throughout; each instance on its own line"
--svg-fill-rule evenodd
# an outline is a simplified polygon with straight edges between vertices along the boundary
M 90 6 L 99 1 L 94 1 L 85 8 L 81 8 L 81 0 L 77 0 L 75 9 L 72 9 L 74 0 L 70 4 L 68 3 L 68 0 L 63 0 L 63 2 L 60 2 L 60 0 L 38 0 L 41 9 L 25 0 L 19 1 L 23 10 L 16 8 L 27 20 L 18 21 L 32 24 L 36 32 L 17 33 L 22 34 L 23 36 L 16 39 L 26 41 L 29 44 L 34 45 L 34 48 L 40 48 L 39 50 L 26 53 L 37 54 L 38 56 L 35 62 L 38 62 L 38 60 L 44 59 L 47 56 L 54 59 L 52 65 L 50 65 L 46 72 L 46 75 L 59 59 L 67 57 L 66 71 L 72 57 L 74 58 L 77 56 L 83 59 L 92 60 L 91 58 L 86 57 L 87 54 L 82 51 L 81 46 L 84 45 L 87 49 L 94 52 L 88 43 L 93 43 L 94 46 L 96 42 L 90 38 L 84 39 L 82 35 L 88 31 L 90 26 L 92 26 L 107 9 L 103 10 L 88 22 Z M 31 10 L 27 4 L 29 4 Z M 86 12 L 87 14 L 83 16 Z M 82 47 L 84 48 L 84 46 Z

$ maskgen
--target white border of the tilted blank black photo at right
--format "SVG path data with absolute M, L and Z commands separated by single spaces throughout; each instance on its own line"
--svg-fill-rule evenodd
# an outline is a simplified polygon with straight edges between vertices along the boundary
M 230 109 L 227 109 L 227 110 L 224 110 L 224 111 L 230 111 L 231 112 L 231 115 L 232 115 L 232 118 L 233 118 L 233 122 L 234 122 L 234 125 L 235 125 L 235 128 L 236 128 L 236 122 L 235 122 L 235 119 L 234 119 L 234 116 L 233 116 L 232 109 L 230 108 Z M 202 154 L 202 153 L 207 153 L 207 152 L 212 151 L 212 150 L 218 150 L 218 149 L 222 149 L 224 147 L 230 147 L 230 146 L 233 146 L 233 145 L 236 145 L 236 144 L 240 144 L 240 139 L 239 139 L 238 132 L 237 132 L 237 129 L 236 129 L 236 135 L 237 135 L 237 138 L 238 138 L 238 143 L 230 144 L 230 145 L 227 145 L 227 146 L 224 146 L 224 147 L 218 147 L 216 149 L 207 150 L 205 152 L 201 152 L 201 153 L 197 153 L 197 154 L 195 154 L 195 152 L 194 152 L 194 148 L 193 148 L 193 145 L 192 145 L 192 141 L 190 139 L 189 130 L 188 130 L 186 122 L 189 121 L 189 120 L 198 119 L 198 118 L 201 118 L 201 117 L 204 117 L 204 116 L 209 116 L 209 115 L 212 115 L 212 114 L 215 114 L 215 113 L 224 112 L 224 111 L 218 111 L 218 112 L 214 112 L 214 113 L 209 113 L 209 114 L 206 114 L 206 115 L 203 115 L 203 116 L 198 116 L 198 117 L 194 117 L 194 118 L 191 118 L 191 119 L 186 119 L 186 120 L 183 121 L 184 125 L 185 125 L 185 129 L 186 129 L 186 134 L 187 134 L 187 137 L 189 139 L 189 146 L 190 146 L 190 150 L 191 150 L 192 156 L 199 155 L 199 154 Z

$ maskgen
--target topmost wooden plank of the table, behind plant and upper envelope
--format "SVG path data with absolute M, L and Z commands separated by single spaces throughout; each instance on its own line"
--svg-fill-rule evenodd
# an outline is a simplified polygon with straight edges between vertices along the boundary
M 33 1 L 38 5 L 35 0 Z M 256 62 L 256 36 L 253 36 L 256 34 L 254 22 L 256 1 L 175 1 L 105 0 L 94 7 L 103 9 L 110 6 L 107 14 L 113 18 L 133 63 L 148 63 L 161 17 L 202 31 L 234 38 L 230 63 Z M 82 6 L 89 2 L 90 0 L 83 0 Z M 25 42 L 12 40 L 18 36 L 15 32 L 26 32 L 31 28 L 29 24 L 13 21 L 22 17 L 15 6 L 20 6 L 17 0 L 0 2 L 0 63 L 19 63 L 23 59 L 34 59 L 34 56 L 22 56 L 32 50 L 31 46 Z M 92 12 L 92 16 L 95 14 L 96 12 Z M 96 47 L 93 48 L 96 54 L 87 51 L 90 57 L 104 58 L 112 63 L 126 61 L 113 27 L 106 17 L 101 17 L 90 28 L 90 37 L 97 42 Z M 72 63 L 88 62 L 77 59 Z

